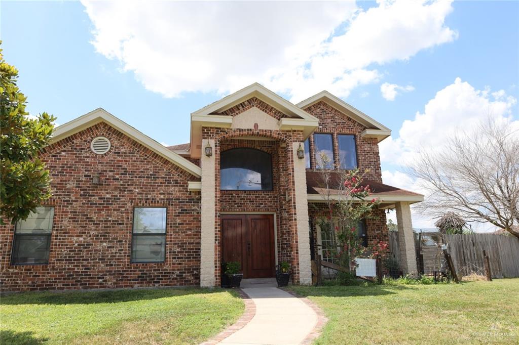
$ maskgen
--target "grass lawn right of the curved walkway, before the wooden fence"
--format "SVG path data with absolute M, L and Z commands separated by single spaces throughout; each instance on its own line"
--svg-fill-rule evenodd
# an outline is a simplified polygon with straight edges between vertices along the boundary
M 519 279 L 290 289 L 329 318 L 317 344 L 519 343 Z

